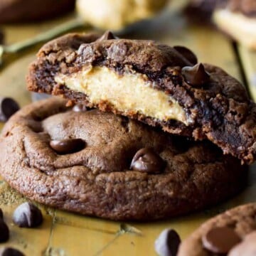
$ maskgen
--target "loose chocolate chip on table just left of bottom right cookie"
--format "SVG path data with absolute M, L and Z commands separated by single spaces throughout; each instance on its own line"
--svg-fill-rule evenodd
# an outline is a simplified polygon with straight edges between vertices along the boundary
M 161 256 L 176 256 L 181 238 L 178 233 L 172 229 L 166 229 L 161 232 L 155 241 L 155 250 Z

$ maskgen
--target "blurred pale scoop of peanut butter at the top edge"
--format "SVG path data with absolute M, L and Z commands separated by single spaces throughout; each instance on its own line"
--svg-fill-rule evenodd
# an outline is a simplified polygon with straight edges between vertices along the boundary
M 169 0 L 78 0 L 80 17 L 102 30 L 121 31 L 129 24 L 151 18 L 164 9 Z

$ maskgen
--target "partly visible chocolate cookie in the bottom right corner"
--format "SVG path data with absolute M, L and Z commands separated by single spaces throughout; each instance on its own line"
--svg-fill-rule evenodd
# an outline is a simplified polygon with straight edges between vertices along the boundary
M 178 256 L 252 256 L 256 252 L 256 203 L 226 211 L 201 225 L 179 249 Z

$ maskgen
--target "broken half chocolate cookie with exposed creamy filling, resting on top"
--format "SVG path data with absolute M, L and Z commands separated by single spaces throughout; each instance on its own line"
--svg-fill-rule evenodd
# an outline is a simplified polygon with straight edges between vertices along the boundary
M 252 163 L 255 103 L 235 78 L 209 64 L 192 68 L 196 62 L 183 47 L 116 39 L 109 32 L 101 38 L 69 34 L 41 48 L 27 84 L 28 90 L 61 95 L 172 134 L 209 139 L 224 154 Z

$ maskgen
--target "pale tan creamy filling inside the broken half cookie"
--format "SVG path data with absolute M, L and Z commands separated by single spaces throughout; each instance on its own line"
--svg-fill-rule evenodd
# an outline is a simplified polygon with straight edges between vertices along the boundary
M 119 75 L 106 67 L 91 67 L 71 75 L 58 75 L 55 81 L 70 90 L 82 92 L 94 105 L 109 102 L 120 112 L 137 112 L 160 120 L 188 123 L 186 113 L 174 98 L 154 89 L 146 75 Z

